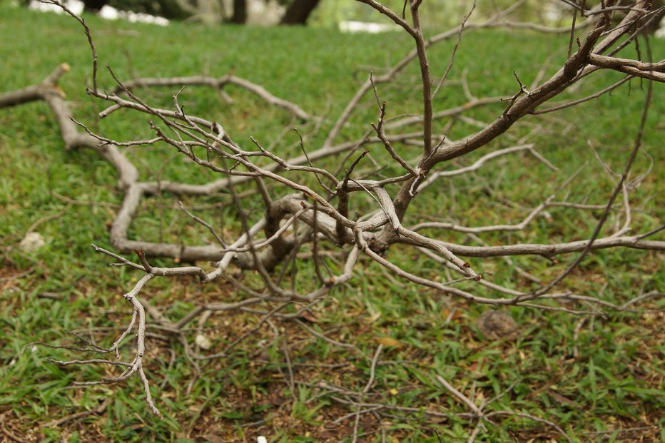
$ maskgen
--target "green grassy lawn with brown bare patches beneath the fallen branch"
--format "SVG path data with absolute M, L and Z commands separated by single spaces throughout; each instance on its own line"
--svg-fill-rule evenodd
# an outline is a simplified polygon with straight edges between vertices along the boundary
M 0 92 L 38 83 L 59 63 L 67 62 L 72 69 L 60 86 L 79 121 L 112 138 L 151 136 L 147 118 L 137 120 L 129 113 L 102 121 L 96 117 L 103 105 L 84 91 L 90 54 L 75 21 L 13 9 L 2 2 L 0 17 Z M 223 121 L 239 143 L 248 143 L 248 137 L 254 136 L 268 145 L 285 126 L 298 125 L 309 150 L 323 142 L 326 129 L 367 78 L 369 66 L 380 73 L 411 49 L 409 39 L 400 34 L 351 36 L 332 29 L 184 24 L 160 28 L 108 23 L 93 16 L 86 20 L 93 29 L 101 66 L 108 64 L 119 78 L 222 76 L 233 71 L 322 116 L 320 128 L 313 123 L 300 125 L 284 111 L 232 87 L 228 93 L 235 100 L 233 105 L 205 88 L 188 88 L 182 94 L 181 103 L 188 113 Z M 450 78 L 459 79 L 462 69 L 468 68 L 475 96 L 511 96 L 517 91 L 513 70 L 528 84 L 551 55 L 548 72 L 552 73 L 564 60 L 567 44 L 565 36 L 469 33 L 462 39 Z M 651 45 L 654 59 L 662 59 L 665 41 Z M 432 49 L 430 63 L 435 72 L 445 70 L 450 49 L 450 44 Z M 601 73 L 562 100 L 583 97 L 620 78 L 619 73 Z M 417 81 L 418 71 L 412 66 L 390 86 L 380 86 L 389 117 L 420 112 Z M 113 86 L 105 68 L 100 83 Z M 151 103 L 171 106 L 176 91 L 166 88 L 142 94 Z M 633 232 L 657 228 L 665 215 L 661 191 L 664 91 L 662 85 L 654 85 L 649 130 L 633 168 L 632 177 L 651 169 L 631 192 L 631 206 L 636 208 Z M 645 92 L 646 84 L 634 80 L 596 101 L 525 119 L 483 152 L 445 167 L 468 166 L 490 149 L 512 146 L 529 135 L 539 153 L 559 167 L 558 172 L 528 154 L 499 158 L 474 173 L 428 188 L 415 200 L 405 225 L 431 218 L 471 226 L 519 223 L 580 166 L 584 166 L 583 173 L 564 194 L 574 202 L 606 203 L 614 183 L 589 145 L 612 170 L 623 170 Z M 439 93 L 435 108 L 465 101 L 460 86 L 452 84 Z M 478 108 L 467 115 L 476 121 L 491 121 L 502 106 Z M 362 136 L 375 118 L 375 98 L 370 94 L 342 131 L 340 141 Z M 442 131 L 447 123 L 437 122 L 436 129 Z M 455 121 L 447 127 L 447 135 L 461 138 L 474 128 L 471 120 Z M 297 141 L 295 133 L 287 133 L 275 145 L 275 152 L 283 158 L 297 155 Z M 408 159 L 415 158 L 420 148 L 400 149 Z M 209 170 L 194 167 L 165 146 L 124 152 L 141 170 L 143 180 L 205 183 L 215 179 Z M 482 337 L 476 326 L 487 307 L 399 280 L 370 260 L 357 268 L 362 275 L 313 307 L 317 321 L 310 323 L 354 348 L 335 347 L 294 322 L 274 320 L 274 325 L 263 325 L 238 345 L 230 357 L 202 363 L 196 377 L 183 345 L 157 327 L 149 327 L 144 365 L 153 397 L 165 415 L 163 421 L 151 416 L 136 377 L 122 385 L 71 387 L 74 381 L 99 380 L 110 373 L 103 367 L 59 367 L 46 359 L 83 357 L 32 343 L 76 344 L 74 332 L 108 345 L 126 325 L 131 311 L 121 295 L 141 276 L 126 268 L 109 268 L 108 258 L 88 246 L 96 243 L 110 248 L 108 226 L 123 194 L 116 187 L 114 170 L 96 153 L 64 150 L 56 121 L 43 102 L 0 110 L 0 156 L 0 434 L 26 442 L 253 442 L 261 434 L 271 442 L 350 442 L 356 409 L 339 401 L 347 398 L 344 392 L 326 393 L 322 384 L 362 391 L 377 345 L 384 343 L 387 346 L 377 360 L 375 381 L 365 398 L 367 403 L 383 407 L 380 415 L 359 416 L 359 441 L 381 442 L 381 429 L 388 442 L 467 441 L 474 424 L 455 416 L 467 409 L 437 382 L 436 375 L 474 397 L 477 404 L 502 394 L 487 412 L 510 410 L 555 422 L 576 442 L 665 439 L 665 299 L 641 303 L 640 312 L 607 310 L 594 317 L 512 307 L 506 312 L 519 325 L 519 337 L 492 341 Z M 372 156 L 379 164 L 390 163 L 378 148 Z M 320 166 L 335 165 L 335 161 L 339 159 L 322 161 Z M 397 173 L 397 168 L 391 168 L 384 173 Z M 177 200 L 166 194 L 146 200 L 130 237 L 191 243 L 212 240 L 177 209 Z M 197 215 L 224 231 L 238 226 L 231 210 L 220 208 L 219 203 L 228 200 L 228 194 L 220 193 L 188 198 L 185 203 L 200 207 Z M 255 202 L 250 198 L 246 204 L 251 209 Z M 361 209 L 374 203 L 359 198 L 354 204 Z M 490 233 L 482 239 L 452 233 L 446 240 L 469 245 L 477 245 L 479 240 L 490 245 L 578 240 L 589 237 L 600 212 L 552 208 L 547 217 L 537 218 L 519 233 Z M 34 223 L 46 245 L 35 253 L 21 253 L 18 243 Z M 613 212 L 604 232 L 621 223 L 621 211 Z M 662 238 L 662 233 L 654 236 L 654 240 Z M 440 265 L 409 248 L 395 248 L 387 256 L 413 273 L 428 277 L 442 273 Z M 520 277 L 517 267 L 549 281 L 573 259 L 574 255 L 561 256 L 558 263 L 540 257 L 514 258 L 510 263 L 474 259 L 472 263 L 474 268 L 492 273 L 499 284 L 528 290 L 534 283 Z M 665 291 L 663 259 L 664 255 L 649 251 L 601 250 L 584 260 L 562 288 L 621 305 L 641 292 Z M 154 263 L 173 265 L 170 260 Z M 340 267 L 335 258 L 329 265 Z M 310 261 L 299 258 L 296 288 L 308 287 L 313 272 Z M 463 283 L 460 288 L 487 295 L 471 284 Z M 194 278 L 178 277 L 152 280 L 143 297 L 175 320 L 199 302 L 240 300 L 243 295 L 224 282 L 200 285 Z M 569 307 L 589 309 L 584 304 Z M 213 352 L 259 321 L 258 315 L 223 312 L 201 327 L 213 342 Z M 196 322 L 191 327 L 196 328 Z M 196 333 L 189 334 L 192 342 Z M 131 345 L 126 345 L 123 354 L 131 352 Z M 101 404 L 99 413 L 55 423 Z M 495 417 L 494 425 L 488 425 L 477 441 L 552 439 L 564 441 L 543 422 L 510 415 Z

